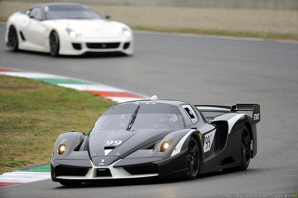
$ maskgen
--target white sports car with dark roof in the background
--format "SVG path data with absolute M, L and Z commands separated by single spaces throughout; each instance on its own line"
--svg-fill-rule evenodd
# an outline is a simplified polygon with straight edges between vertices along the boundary
M 11 51 L 50 52 L 52 56 L 87 52 L 133 54 L 130 27 L 108 18 L 83 4 L 39 4 L 8 18 L 5 42 Z

